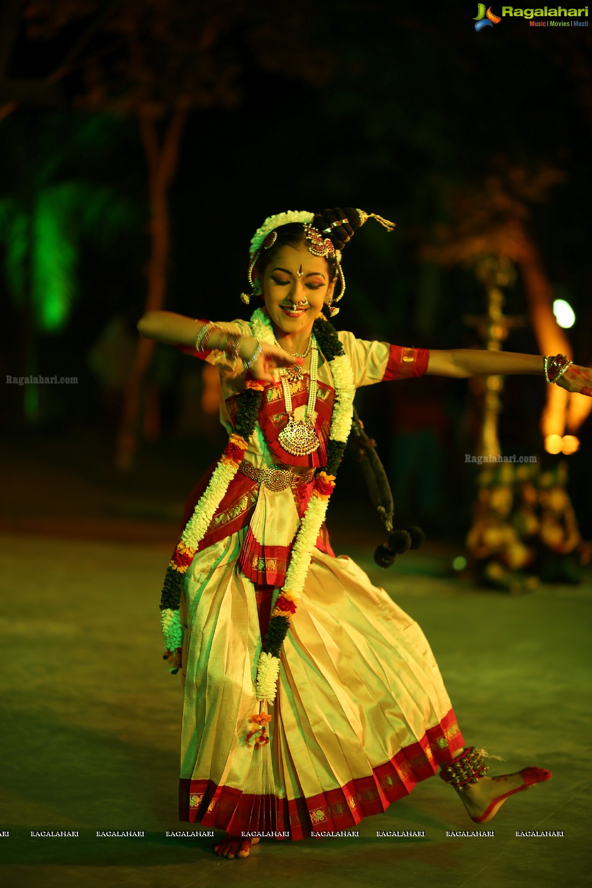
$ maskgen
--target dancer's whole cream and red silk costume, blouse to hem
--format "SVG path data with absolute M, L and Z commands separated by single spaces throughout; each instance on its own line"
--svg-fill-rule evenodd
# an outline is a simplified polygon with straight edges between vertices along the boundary
M 250 335 L 246 321 L 218 326 Z M 427 369 L 424 349 L 367 342 L 343 331 L 339 338 L 356 387 L 418 377 Z M 220 418 L 232 432 L 244 374 L 224 353 L 177 347 L 217 365 Z M 296 413 L 306 404 L 306 375 L 290 390 Z M 320 361 L 320 447 L 310 456 L 292 456 L 278 441 L 288 420 L 280 382 L 266 385 L 244 459 L 257 469 L 296 466 L 303 475 L 323 466 L 334 393 L 328 361 Z M 185 503 L 181 529 L 212 471 Z M 335 558 L 323 526 L 281 647 L 268 728 L 274 795 L 257 795 L 261 749 L 244 741 L 256 703 L 257 655 L 311 493 L 312 481 L 305 479 L 275 491 L 237 472 L 185 574 L 180 821 L 239 836 L 243 830 L 287 831 L 293 839 L 312 829 L 351 829 L 406 796 L 463 748 L 422 630 L 351 559 Z

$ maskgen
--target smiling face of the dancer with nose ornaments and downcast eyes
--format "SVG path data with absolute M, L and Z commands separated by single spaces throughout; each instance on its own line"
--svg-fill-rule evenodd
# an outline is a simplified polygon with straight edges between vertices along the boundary
M 310 333 L 335 288 L 323 257 L 288 245 L 275 253 L 260 283 L 274 327 L 288 334 Z

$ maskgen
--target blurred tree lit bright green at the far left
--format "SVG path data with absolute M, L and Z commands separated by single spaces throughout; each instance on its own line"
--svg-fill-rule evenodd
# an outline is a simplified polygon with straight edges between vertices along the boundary
M 73 125 L 74 124 L 74 125 Z M 7 125 L 7 124 L 4 124 Z M 0 173 L 0 241 L 11 297 L 20 313 L 19 376 L 38 376 L 39 333 L 56 333 L 69 320 L 79 295 L 81 242 L 90 238 L 110 249 L 121 234 L 138 226 L 138 203 L 121 189 L 74 176 L 73 159 L 113 147 L 116 134 L 105 115 L 69 118 L 52 112 L 20 115 L 10 121 L 10 150 L 4 146 Z M 19 387 L 20 421 L 39 420 L 39 389 Z

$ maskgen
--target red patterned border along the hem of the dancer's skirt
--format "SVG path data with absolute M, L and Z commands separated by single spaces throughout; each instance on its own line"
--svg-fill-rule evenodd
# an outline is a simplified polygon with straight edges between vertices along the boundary
M 311 832 L 354 828 L 364 817 L 383 813 L 392 802 L 408 796 L 417 783 L 433 777 L 464 747 L 454 710 L 422 739 L 399 749 L 367 777 L 351 780 L 310 798 L 245 795 L 241 789 L 217 786 L 209 780 L 181 778 L 178 787 L 179 821 L 241 832 L 288 832 L 296 840 Z M 257 755 L 257 749 L 254 755 Z M 282 839 L 287 836 L 273 836 Z

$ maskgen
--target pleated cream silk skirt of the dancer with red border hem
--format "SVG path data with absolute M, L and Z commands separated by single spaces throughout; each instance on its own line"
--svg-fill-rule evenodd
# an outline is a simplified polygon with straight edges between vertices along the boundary
M 315 549 L 281 648 L 269 745 L 249 745 L 259 612 L 266 627 L 279 591 L 262 599 L 241 574 L 245 533 L 198 552 L 185 575 L 179 820 L 293 839 L 354 828 L 463 748 L 438 665 L 383 589 Z

